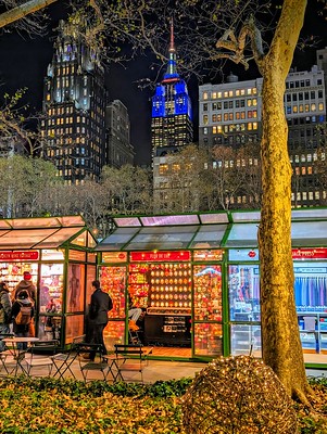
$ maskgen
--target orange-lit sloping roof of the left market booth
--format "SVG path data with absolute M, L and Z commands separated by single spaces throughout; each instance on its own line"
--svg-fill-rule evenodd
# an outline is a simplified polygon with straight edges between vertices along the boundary
M 1 219 L 0 250 L 58 248 L 67 241 L 79 245 L 84 229 L 80 216 Z

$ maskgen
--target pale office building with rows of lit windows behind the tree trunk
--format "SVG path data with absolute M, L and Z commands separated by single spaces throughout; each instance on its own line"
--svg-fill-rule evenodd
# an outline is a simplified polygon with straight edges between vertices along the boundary
M 285 114 L 293 168 L 293 207 L 322 205 L 327 199 L 326 190 L 316 182 L 314 169 L 319 158 L 317 127 L 326 123 L 326 59 L 327 50 L 319 50 L 319 66 L 314 65 L 309 72 L 292 69 L 286 80 Z M 232 75 L 226 84 L 200 86 L 199 144 L 212 149 L 259 143 L 262 133 L 261 89 L 262 78 L 239 81 Z M 241 202 L 238 197 L 234 200 Z

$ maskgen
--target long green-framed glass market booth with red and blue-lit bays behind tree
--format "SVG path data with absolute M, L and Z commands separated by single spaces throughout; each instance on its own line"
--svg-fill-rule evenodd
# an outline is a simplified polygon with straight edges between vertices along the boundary
M 109 346 L 128 340 L 129 293 L 146 314 L 138 334 L 154 357 L 261 356 L 260 212 L 113 220 L 96 247 L 102 288 L 114 302 Z M 305 360 L 327 362 L 327 209 L 292 212 L 292 247 Z

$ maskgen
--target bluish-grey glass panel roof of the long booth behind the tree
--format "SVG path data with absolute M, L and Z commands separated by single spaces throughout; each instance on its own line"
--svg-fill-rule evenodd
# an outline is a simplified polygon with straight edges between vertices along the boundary
M 96 251 L 257 247 L 260 210 L 186 215 L 116 216 L 116 228 Z M 327 244 L 327 209 L 292 210 L 292 245 Z

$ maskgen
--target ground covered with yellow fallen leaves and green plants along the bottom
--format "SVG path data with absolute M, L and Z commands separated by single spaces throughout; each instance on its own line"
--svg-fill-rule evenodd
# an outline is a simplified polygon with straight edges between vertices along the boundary
M 183 394 L 190 383 L 191 379 L 146 386 L 2 379 L 0 433 L 185 433 Z M 295 405 L 300 433 L 327 434 L 327 379 L 315 380 L 312 387 L 315 412 Z

